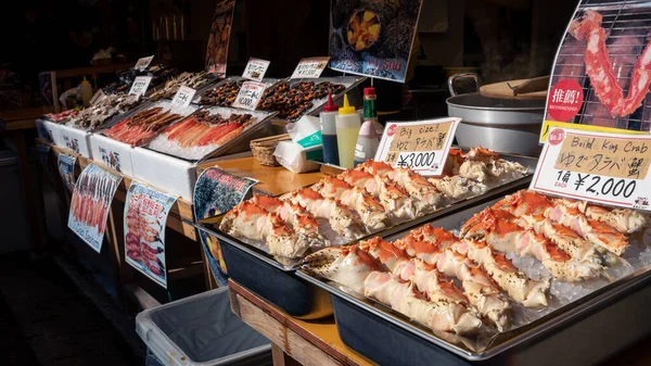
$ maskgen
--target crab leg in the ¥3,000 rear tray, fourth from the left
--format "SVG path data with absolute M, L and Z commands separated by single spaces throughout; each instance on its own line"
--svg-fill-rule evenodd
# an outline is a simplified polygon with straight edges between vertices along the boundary
M 366 194 L 359 187 L 352 187 L 339 178 L 327 177 L 312 186 L 312 189 L 324 198 L 339 200 L 348 209 L 357 211 L 370 231 L 382 230 L 390 223 L 390 216 L 380 202 Z

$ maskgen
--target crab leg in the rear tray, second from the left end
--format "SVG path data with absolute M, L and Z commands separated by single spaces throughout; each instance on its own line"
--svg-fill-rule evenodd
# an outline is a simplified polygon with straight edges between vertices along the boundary
M 255 194 L 250 202 L 278 214 L 310 248 L 330 245 L 330 241 L 321 234 L 319 222 L 301 205 L 260 194 Z

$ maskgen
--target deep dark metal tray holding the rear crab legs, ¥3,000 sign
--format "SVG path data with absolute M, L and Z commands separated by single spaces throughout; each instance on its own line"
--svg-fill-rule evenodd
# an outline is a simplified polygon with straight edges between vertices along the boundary
M 516 162 L 526 167 L 526 174 L 512 181 L 499 185 L 486 192 L 465 198 L 433 213 L 405 220 L 380 230 L 372 236 L 388 237 L 410 227 L 433 219 L 445 217 L 460 210 L 474 206 L 503 197 L 505 194 L 528 187 L 537 160 L 527 156 L 501 155 L 509 162 Z M 314 188 L 314 187 L 312 187 Z M 304 188 L 309 190 L 309 188 Z M 269 254 L 259 245 L 246 242 L 219 229 L 225 216 L 200 220 L 197 229 L 219 239 L 221 250 L 229 268 L 229 276 L 238 283 L 246 287 L 270 303 L 292 316 L 301 318 L 319 318 L 331 311 L 330 301 L 320 289 L 310 286 L 305 279 L 296 276 L 295 270 L 304 263 L 303 257 L 285 258 Z M 357 239 L 363 239 L 362 237 Z M 341 243 L 339 243 L 341 244 Z M 288 289 L 292 289 L 289 291 Z

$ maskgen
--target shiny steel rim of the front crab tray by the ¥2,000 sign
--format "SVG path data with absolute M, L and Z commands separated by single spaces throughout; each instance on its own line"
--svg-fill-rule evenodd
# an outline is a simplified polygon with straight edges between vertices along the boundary
M 431 220 L 430 223 L 434 224 L 437 227 L 442 227 L 446 230 L 459 229 L 461 223 L 464 223 L 468 218 L 472 217 L 472 215 L 482 211 L 484 207 L 494 204 L 499 199 L 484 201 L 483 204 L 477 204 L 475 206 L 467 207 L 464 210 L 458 210 L 454 214 L 438 217 L 435 220 Z M 392 235 L 385 236 L 384 239 L 388 241 L 394 241 L 404 237 L 408 232 L 409 230 L 394 232 Z M 360 294 L 356 294 L 339 283 L 316 278 L 309 275 L 307 272 L 304 272 L 303 269 L 297 270 L 296 276 L 329 291 L 332 295 L 344 300 L 345 302 L 354 305 L 354 307 L 358 307 L 360 310 L 363 310 L 365 312 L 370 312 L 374 316 L 382 319 L 382 321 L 385 323 L 386 326 L 397 326 L 400 329 L 410 333 L 411 336 L 414 336 L 420 341 L 424 340 L 431 344 L 442 348 L 445 351 L 451 352 L 464 359 L 474 362 L 485 361 L 500 355 L 501 353 L 505 353 L 506 351 L 509 351 L 513 348 L 522 348 L 527 342 L 535 342 L 535 340 L 540 340 L 541 338 L 551 335 L 553 331 L 570 326 L 572 321 L 582 319 L 582 316 L 587 316 L 588 314 L 590 314 L 590 312 L 596 312 L 604 307 L 609 303 L 623 300 L 625 295 L 630 292 L 631 289 L 649 285 L 649 279 L 651 278 L 650 269 L 651 265 L 638 268 L 631 274 L 624 276 L 602 288 L 599 288 L 590 292 L 589 294 L 574 302 L 571 302 L 565 306 L 552 311 L 551 313 L 525 326 L 499 333 L 493 339 L 490 339 L 487 345 L 480 351 L 472 350 L 471 348 L 463 344 L 463 342 L 455 343 L 445 340 L 445 335 L 437 336 L 431 330 L 416 325 L 404 315 L 386 307 L 385 305 L 373 300 L 363 298 Z M 638 303 L 639 299 L 635 302 L 635 304 L 637 305 Z M 649 299 L 648 305 L 651 306 L 651 299 Z M 643 323 L 643 325 L 641 323 Z M 650 321 L 640 321 L 640 327 L 643 328 L 646 333 L 651 332 Z M 609 328 L 604 326 L 603 331 L 616 332 L 616 326 L 615 328 Z M 589 342 L 590 336 L 586 335 L 586 337 L 587 339 L 584 341 Z M 524 345 L 525 349 L 527 346 L 528 345 Z M 520 352 L 522 352 L 522 350 L 520 350 Z M 553 350 L 549 350 L 549 352 L 553 352 Z M 554 363 L 550 362 L 549 364 Z

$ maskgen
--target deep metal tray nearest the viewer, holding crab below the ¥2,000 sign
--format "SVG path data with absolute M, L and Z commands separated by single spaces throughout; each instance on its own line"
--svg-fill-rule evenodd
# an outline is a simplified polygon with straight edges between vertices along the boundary
M 439 217 L 431 224 L 446 230 L 458 229 L 460 223 L 495 202 L 497 199 Z M 385 239 L 394 241 L 408 232 Z M 587 365 L 651 332 L 651 321 L 640 321 L 651 316 L 649 269 L 651 265 L 528 325 L 499 333 L 480 352 L 445 340 L 387 306 L 355 294 L 339 283 L 316 278 L 303 269 L 296 275 L 331 293 L 344 343 L 379 364 L 420 365 L 437 359 L 462 365 L 468 362 L 482 365 Z M 378 333 L 385 337 L 369 337 Z M 388 346 L 391 342 L 399 342 L 400 346 Z

